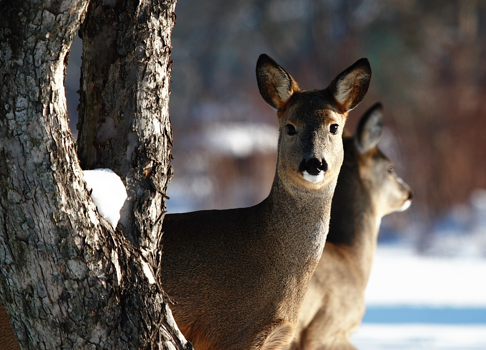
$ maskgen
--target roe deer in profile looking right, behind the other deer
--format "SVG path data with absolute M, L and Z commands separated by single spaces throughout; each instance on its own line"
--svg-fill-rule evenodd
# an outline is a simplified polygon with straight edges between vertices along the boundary
M 382 106 L 376 104 L 361 118 L 356 135 L 343 138 L 329 234 L 302 304 L 294 349 L 356 349 L 349 335 L 364 315 L 381 219 L 412 201 L 410 187 L 377 147 L 381 133 Z

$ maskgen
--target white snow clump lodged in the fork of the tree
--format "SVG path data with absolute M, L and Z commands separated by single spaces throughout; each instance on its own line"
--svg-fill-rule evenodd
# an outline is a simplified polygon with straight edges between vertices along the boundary
M 120 210 L 127 198 L 120 176 L 110 169 L 84 170 L 87 189 L 98 211 L 113 228 L 120 220 Z

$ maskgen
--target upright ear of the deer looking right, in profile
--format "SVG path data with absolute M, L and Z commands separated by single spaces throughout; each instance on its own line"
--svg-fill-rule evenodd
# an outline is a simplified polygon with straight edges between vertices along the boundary
M 376 147 L 382 137 L 382 130 L 383 106 L 378 102 L 364 113 L 356 129 L 354 140 L 361 154 Z

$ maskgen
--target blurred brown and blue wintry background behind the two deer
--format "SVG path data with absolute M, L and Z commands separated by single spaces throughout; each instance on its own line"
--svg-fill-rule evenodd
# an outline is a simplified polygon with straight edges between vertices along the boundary
M 402 296 L 391 304 L 427 307 L 441 291 L 455 290 L 460 297 L 452 293 L 440 305 L 447 310 L 466 305 L 464 310 L 479 310 L 483 318 L 444 312 L 452 319 L 486 323 L 486 1 L 179 0 L 176 15 L 170 102 L 175 175 L 169 212 L 250 206 L 267 196 L 278 123 L 258 92 L 260 53 L 273 57 L 305 89 L 326 88 L 338 73 L 367 57 L 371 85 L 350 113 L 347 128 L 354 132 L 362 113 L 382 102 L 380 147 L 415 194 L 409 210 L 382 220 L 377 260 L 395 272 L 403 266 L 402 276 L 421 262 L 411 280 L 420 266 L 432 264 L 426 272 L 431 275 L 419 285 L 407 282 L 407 288 L 397 281 L 396 290 L 384 290 Z M 66 81 L 73 133 L 80 55 L 77 39 Z M 400 256 L 415 258 L 399 260 L 390 247 L 406 247 Z M 451 275 L 452 265 L 464 268 Z M 379 267 L 373 271 L 369 288 L 375 292 L 368 310 L 381 305 L 380 291 L 394 275 Z M 443 271 L 443 279 L 435 280 L 434 271 Z M 458 275 L 465 278 L 462 287 Z M 410 300 L 410 285 L 422 297 Z M 471 295 L 472 290 L 478 294 Z M 430 300 L 424 299 L 427 291 L 433 291 Z M 431 317 L 447 318 L 440 312 Z M 452 331 L 439 329 L 444 332 Z M 486 328 L 481 332 L 484 343 L 468 347 L 462 342 L 457 349 L 485 349 Z M 422 349 L 420 344 L 410 349 Z

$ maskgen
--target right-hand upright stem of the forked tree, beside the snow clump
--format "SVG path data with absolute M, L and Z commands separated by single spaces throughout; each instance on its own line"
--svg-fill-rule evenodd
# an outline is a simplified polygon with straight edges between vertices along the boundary
M 83 169 L 110 168 L 126 183 L 121 224 L 146 251 L 158 247 L 172 177 L 169 122 L 175 0 L 93 0 L 81 26 L 78 154 Z M 154 257 L 155 260 L 159 257 Z

